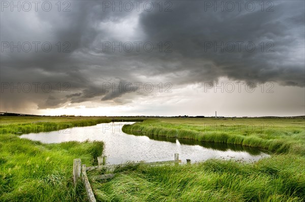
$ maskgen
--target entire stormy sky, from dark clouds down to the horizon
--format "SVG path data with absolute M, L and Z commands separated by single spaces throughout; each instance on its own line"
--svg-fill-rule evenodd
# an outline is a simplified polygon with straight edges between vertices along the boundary
M 0 111 L 305 115 L 304 1 L 0 1 Z

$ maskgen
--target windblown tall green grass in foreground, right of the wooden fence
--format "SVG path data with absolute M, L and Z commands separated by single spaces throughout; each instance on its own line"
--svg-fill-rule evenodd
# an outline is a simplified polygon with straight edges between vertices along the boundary
M 297 155 L 276 155 L 251 164 L 143 164 L 120 171 L 112 180 L 91 182 L 99 201 L 302 201 L 303 163 Z

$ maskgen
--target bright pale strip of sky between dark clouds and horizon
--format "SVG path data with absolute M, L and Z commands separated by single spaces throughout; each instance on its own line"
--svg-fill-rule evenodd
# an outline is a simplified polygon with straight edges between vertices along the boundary
M 240 85 L 238 90 L 237 81 L 221 78 L 215 88 L 210 83 L 199 85 L 188 85 L 180 88 L 173 88 L 172 93 L 148 94 L 146 96 L 135 96 L 132 102 L 124 105 L 113 106 L 112 102 L 84 102 L 79 104 L 67 104 L 58 109 L 36 110 L 36 115 L 60 116 L 206 116 L 214 117 L 215 111 L 218 116 L 224 117 L 261 117 L 261 116 L 304 116 L 298 111 L 298 105 L 305 102 L 302 99 L 303 88 L 280 86 L 273 87 L 258 85 L 250 93 L 251 86 L 246 89 L 245 84 Z M 235 85 L 233 90 L 231 87 Z M 271 88 L 272 87 L 272 88 Z M 223 92 L 221 92 L 223 90 Z M 247 90 L 249 92 L 247 92 Z M 270 91 L 266 93 L 266 91 Z M 263 92 L 262 92 L 263 91 Z M 273 91 L 273 92 L 272 92 Z M 193 92 L 193 93 L 190 93 Z M 282 92 L 282 93 L 277 93 Z M 181 99 L 184 94 L 188 97 Z M 299 94 L 299 99 L 291 100 L 290 97 Z M 305 97 L 305 96 L 303 96 Z M 166 100 L 166 101 L 164 101 Z M 290 102 L 290 108 L 286 104 Z M 106 103 L 106 104 L 105 104 Z M 275 105 L 276 104 L 276 105 Z M 104 105 L 101 106 L 101 105 Z M 93 107 L 86 107 L 93 106 Z M 154 106 L 154 108 L 151 108 Z M 187 107 L 184 107 L 187 106 Z M 215 107 L 217 106 L 217 107 Z M 286 107 L 285 107 L 286 106 Z M 235 112 L 236 109 L 240 111 Z M 304 109 L 304 106 L 303 106 Z M 255 113 L 253 111 L 256 111 Z M 276 112 L 275 112 L 276 111 Z M 26 112 L 12 112 L 24 113 Z M 31 113 L 29 113 L 31 114 Z

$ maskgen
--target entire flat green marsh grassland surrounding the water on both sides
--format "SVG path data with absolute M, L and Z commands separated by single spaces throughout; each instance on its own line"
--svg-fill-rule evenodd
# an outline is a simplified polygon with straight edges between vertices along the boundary
M 88 201 L 73 185 L 73 159 L 97 164 L 103 142 L 42 144 L 20 134 L 82 127 L 112 117 L 0 117 L 0 201 Z M 194 164 L 130 164 L 115 177 L 95 180 L 98 201 L 305 201 L 304 118 L 136 118 L 123 131 L 149 136 L 258 147 L 257 162 L 211 159 Z M 97 171 L 93 174 L 103 174 Z

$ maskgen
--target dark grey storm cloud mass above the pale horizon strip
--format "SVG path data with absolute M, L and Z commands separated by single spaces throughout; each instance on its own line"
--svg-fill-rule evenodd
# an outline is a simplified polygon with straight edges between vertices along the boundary
M 304 2 L 272 1 L 273 12 L 261 11 L 258 2 L 252 12 L 206 8 L 215 1 L 171 1 L 171 12 L 103 11 L 103 1 L 71 1 L 70 12 L 1 12 L 1 42 L 49 42 L 50 52 L 1 52 L 2 83 L 51 83 L 48 93 L 1 93 L 1 108 L 58 108 L 86 101 L 130 102 L 125 89 L 109 91 L 103 83 L 172 82 L 175 86 L 217 81 L 227 77 L 254 83 L 277 82 L 283 86 L 305 85 Z M 218 1 L 221 3 L 221 1 Z M 222 1 L 225 4 L 225 1 Z M 165 1 L 163 2 L 165 3 Z M 163 5 L 163 10 L 166 8 Z M 235 5 L 236 6 L 236 5 Z M 206 11 L 205 11 L 206 10 Z M 58 52 L 60 42 L 60 52 Z M 68 44 L 64 45 L 65 42 Z M 105 42 L 130 42 L 131 52 L 105 49 Z M 136 51 L 135 42 L 141 42 Z M 151 52 L 143 44 L 154 45 Z M 160 52 L 162 42 L 162 52 Z M 165 42 L 169 44 L 165 45 Z M 241 43 L 241 50 L 238 50 Z M 253 52 L 245 44 L 255 44 Z M 214 43 L 235 49 L 214 50 Z M 261 50 L 264 43 L 264 50 Z M 57 45 L 56 45 L 57 44 Z M 207 45 L 211 45 L 207 48 Z M 251 44 L 250 44 L 251 45 Z M 67 48 L 69 52 L 63 52 Z M 251 47 L 251 46 L 250 46 Z M 168 48 L 171 52 L 164 52 Z M 104 50 L 105 49 L 105 50 Z M 266 52 L 266 50 L 274 52 Z M 58 92 L 60 84 L 62 89 Z M 69 83 L 67 92 L 62 92 Z M 67 86 L 66 86 L 67 87 Z M 108 90 L 108 91 L 107 91 Z M 145 92 L 128 96 L 144 96 Z M 22 100 L 22 102 L 20 102 Z M 117 102 L 115 102 L 115 100 Z

